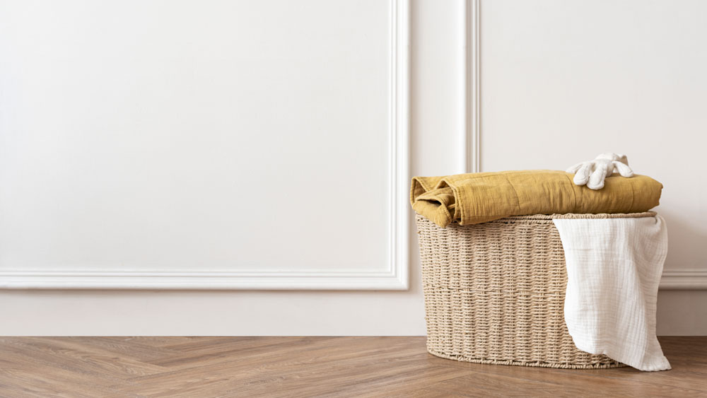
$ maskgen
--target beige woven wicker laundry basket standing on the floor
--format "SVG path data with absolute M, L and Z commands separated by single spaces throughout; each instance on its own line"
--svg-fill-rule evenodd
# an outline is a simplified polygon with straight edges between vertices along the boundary
M 417 216 L 427 350 L 474 363 L 619 368 L 578 350 L 563 315 L 567 272 L 553 218 L 633 218 L 655 213 L 515 216 L 440 228 Z

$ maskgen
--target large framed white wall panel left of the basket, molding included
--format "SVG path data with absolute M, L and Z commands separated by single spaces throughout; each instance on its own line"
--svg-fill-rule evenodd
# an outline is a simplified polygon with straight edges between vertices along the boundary
M 404 2 L 38 4 L 0 16 L 0 276 L 397 267 Z

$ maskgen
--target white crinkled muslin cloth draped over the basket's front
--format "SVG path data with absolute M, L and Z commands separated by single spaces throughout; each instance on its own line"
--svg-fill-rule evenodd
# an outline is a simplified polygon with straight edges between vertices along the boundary
M 556 219 L 567 263 L 565 322 L 578 349 L 667 370 L 655 303 L 667 254 L 660 216 Z

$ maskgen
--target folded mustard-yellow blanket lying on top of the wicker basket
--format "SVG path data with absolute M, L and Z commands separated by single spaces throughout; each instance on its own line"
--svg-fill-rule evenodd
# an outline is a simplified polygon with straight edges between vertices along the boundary
M 604 188 L 575 185 L 556 170 L 476 172 L 414 177 L 412 208 L 440 227 L 508 216 L 554 213 L 640 213 L 658 206 L 662 184 L 645 175 L 607 177 Z

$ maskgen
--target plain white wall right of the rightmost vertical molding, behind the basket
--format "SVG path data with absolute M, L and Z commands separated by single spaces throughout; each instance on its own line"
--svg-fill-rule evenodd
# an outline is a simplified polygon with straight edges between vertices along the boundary
M 667 271 L 707 271 L 707 3 L 483 1 L 481 168 L 626 153 L 665 186 Z M 661 291 L 658 332 L 707 334 L 705 291 Z

